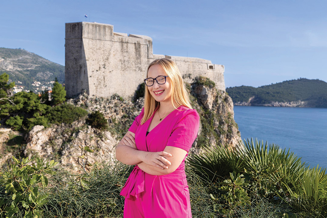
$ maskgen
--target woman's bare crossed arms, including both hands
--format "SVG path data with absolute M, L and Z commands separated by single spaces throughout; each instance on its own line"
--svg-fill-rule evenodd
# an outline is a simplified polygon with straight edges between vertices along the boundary
M 116 159 L 128 165 L 137 164 L 144 172 L 161 176 L 174 172 L 183 161 L 186 151 L 173 146 L 166 146 L 160 152 L 137 150 L 135 133 L 127 131 L 116 147 Z

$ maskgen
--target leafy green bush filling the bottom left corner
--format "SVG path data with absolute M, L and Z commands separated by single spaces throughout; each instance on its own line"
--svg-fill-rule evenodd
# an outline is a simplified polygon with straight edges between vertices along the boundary
M 36 158 L 30 164 L 28 158 L 14 163 L 5 172 L 0 172 L 0 217 L 40 218 L 41 207 L 48 202 L 47 194 L 42 194 L 39 187 L 47 187 L 47 175 L 54 175 L 54 160 L 44 162 Z M 35 161 L 35 162 L 34 162 Z

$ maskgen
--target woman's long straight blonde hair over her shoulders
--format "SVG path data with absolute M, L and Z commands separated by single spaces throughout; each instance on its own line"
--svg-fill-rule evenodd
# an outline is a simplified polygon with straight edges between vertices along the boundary
M 174 105 L 174 101 L 177 103 L 178 106 L 185 106 L 187 108 L 192 109 L 190 98 L 186 91 L 185 84 L 183 82 L 180 70 L 176 66 L 176 64 L 166 58 L 156 59 L 150 63 L 147 68 L 146 77 L 148 76 L 147 73 L 151 66 L 159 64 L 163 70 L 166 72 L 169 79 L 171 81 L 171 88 L 172 88 L 172 98 L 171 102 L 175 109 L 177 109 Z M 144 124 L 153 114 L 153 112 L 158 109 L 160 103 L 156 101 L 152 95 L 150 94 L 147 86 L 145 86 L 145 95 L 144 95 L 144 116 L 141 120 L 141 125 Z

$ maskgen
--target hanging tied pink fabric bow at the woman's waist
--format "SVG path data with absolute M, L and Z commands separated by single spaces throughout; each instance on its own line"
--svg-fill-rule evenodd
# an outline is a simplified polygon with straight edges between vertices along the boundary
M 134 197 L 137 198 L 138 195 L 144 191 L 144 186 L 145 172 L 136 165 L 130 173 L 120 195 L 125 196 L 128 199 L 133 199 Z

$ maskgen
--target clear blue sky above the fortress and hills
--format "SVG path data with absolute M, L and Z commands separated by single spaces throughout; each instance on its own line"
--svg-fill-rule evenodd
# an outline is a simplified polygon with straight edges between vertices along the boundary
M 327 1 L 2 1 L 0 47 L 64 65 L 65 23 L 147 35 L 154 54 L 225 65 L 226 87 L 327 81 Z

